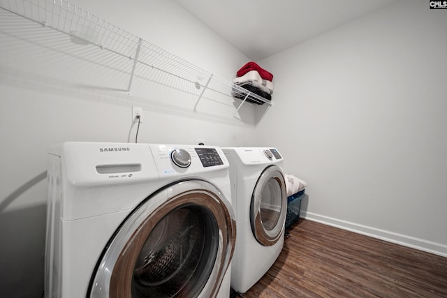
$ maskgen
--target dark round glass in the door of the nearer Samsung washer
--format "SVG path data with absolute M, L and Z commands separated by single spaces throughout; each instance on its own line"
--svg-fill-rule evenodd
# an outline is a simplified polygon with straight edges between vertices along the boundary
M 133 269 L 132 297 L 197 296 L 214 266 L 217 234 L 217 223 L 204 209 L 171 211 L 142 246 Z

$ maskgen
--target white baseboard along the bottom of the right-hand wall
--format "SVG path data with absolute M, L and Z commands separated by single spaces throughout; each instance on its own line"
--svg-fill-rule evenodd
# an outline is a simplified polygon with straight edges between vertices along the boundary
M 367 225 L 359 225 L 358 223 L 351 223 L 349 221 L 342 221 L 337 218 L 314 214 L 312 212 L 305 212 L 303 210 L 300 212 L 300 217 L 308 219 L 309 221 L 316 221 L 325 225 L 331 225 L 335 228 L 349 230 L 358 234 L 364 234 L 369 237 L 374 237 L 395 244 L 400 244 L 402 246 L 416 248 L 420 251 L 426 251 L 427 253 L 434 253 L 435 255 L 447 257 L 447 246 L 437 242 L 372 228 L 368 227 Z

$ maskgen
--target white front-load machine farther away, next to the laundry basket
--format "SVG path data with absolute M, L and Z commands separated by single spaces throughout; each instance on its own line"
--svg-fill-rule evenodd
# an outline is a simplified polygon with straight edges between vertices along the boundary
M 222 148 L 230 163 L 237 241 L 231 287 L 244 293 L 272 267 L 284 246 L 287 213 L 283 158 L 274 148 Z

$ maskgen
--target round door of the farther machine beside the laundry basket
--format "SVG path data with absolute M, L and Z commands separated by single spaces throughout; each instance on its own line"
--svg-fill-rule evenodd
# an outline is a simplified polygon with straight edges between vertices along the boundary
M 287 214 L 286 182 L 277 165 L 265 168 L 250 204 L 251 230 L 260 244 L 271 246 L 283 236 Z

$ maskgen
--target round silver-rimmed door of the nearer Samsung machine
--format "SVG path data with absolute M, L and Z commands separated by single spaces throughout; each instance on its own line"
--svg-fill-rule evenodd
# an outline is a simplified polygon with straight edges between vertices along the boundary
M 182 181 L 147 198 L 115 232 L 90 297 L 216 297 L 233 257 L 235 216 L 219 190 Z

